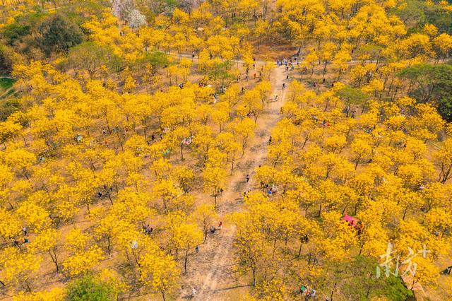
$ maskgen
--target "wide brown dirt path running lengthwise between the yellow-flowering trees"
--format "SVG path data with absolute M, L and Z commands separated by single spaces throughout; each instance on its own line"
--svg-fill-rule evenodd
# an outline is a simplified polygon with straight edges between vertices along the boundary
M 240 211 L 242 208 L 242 194 L 249 187 L 258 188 L 254 180 L 254 169 L 266 160 L 268 137 L 271 129 L 280 119 L 280 107 L 285 101 L 286 90 L 282 90 L 285 79 L 285 69 L 279 67 L 273 69 L 270 74 L 270 81 L 273 86 L 272 100 L 266 105 L 266 110 L 258 118 L 256 136 L 251 146 L 246 150 L 242 159 L 237 162 L 237 167 L 229 179 L 218 208 L 220 220 L 228 213 Z M 278 93 L 278 101 L 273 101 L 273 95 Z M 249 183 L 246 183 L 246 175 L 250 175 Z M 191 261 L 191 268 L 186 275 L 186 284 L 182 288 L 182 295 L 179 299 L 189 299 L 191 288 L 196 288 L 197 294 L 194 300 L 223 300 L 221 296 L 225 290 L 237 288 L 234 280 L 233 242 L 235 227 L 227 220 L 223 220 L 223 228 L 214 235 L 210 235 L 205 244 L 201 244 L 201 251 L 196 254 Z

